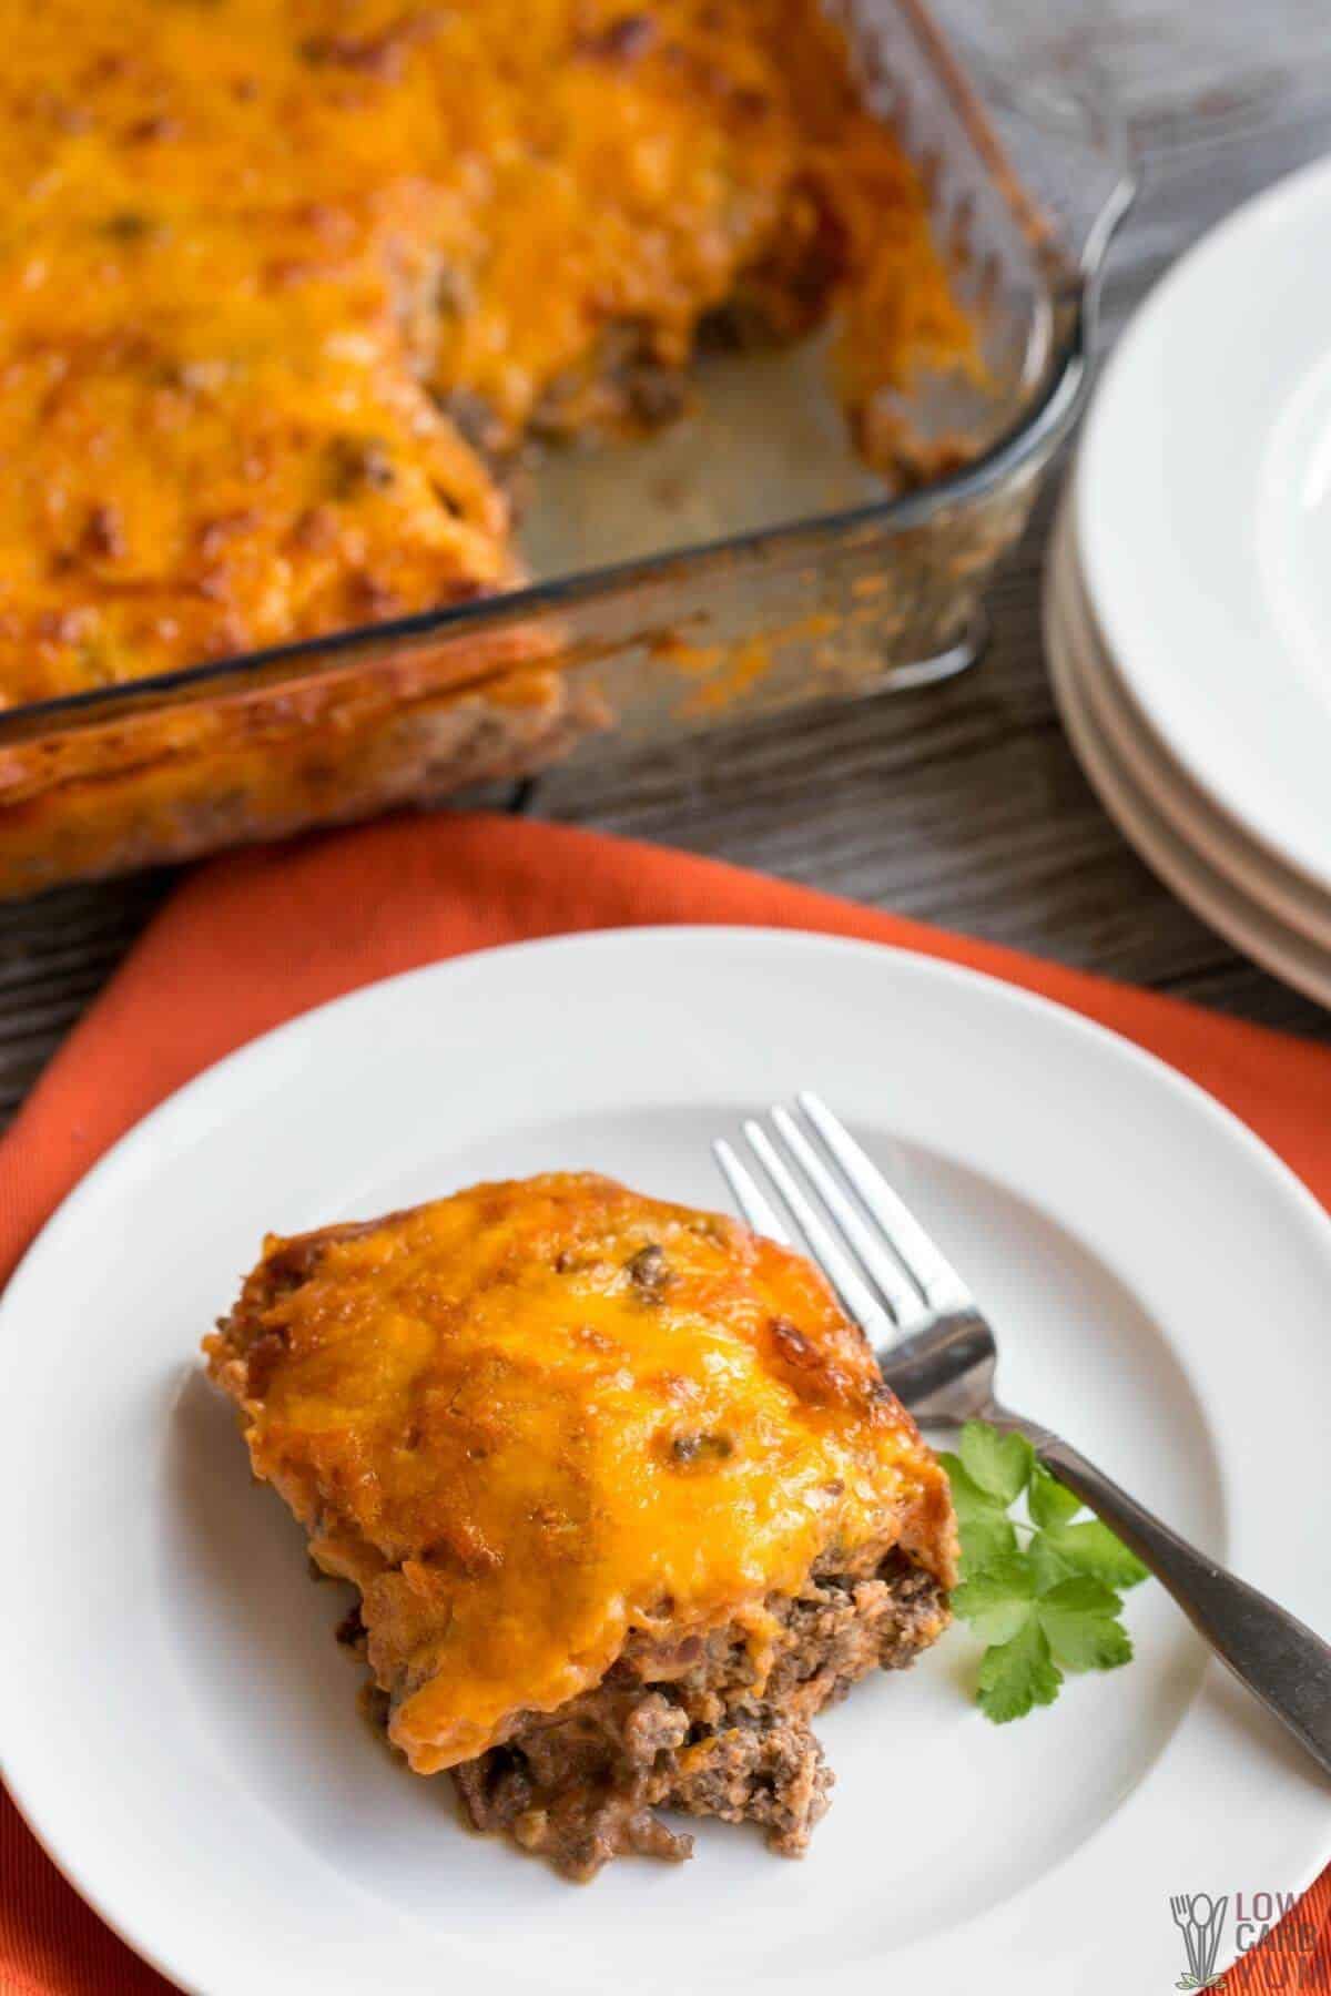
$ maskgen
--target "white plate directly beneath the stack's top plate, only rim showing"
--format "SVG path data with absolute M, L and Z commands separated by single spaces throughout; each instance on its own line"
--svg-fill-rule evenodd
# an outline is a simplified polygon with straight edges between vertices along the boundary
M 1062 599 L 1066 619 L 1078 631 L 1082 691 L 1108 745 L 1155 812 L 1243 896 L 1331 952 L 1331 894 L 1323 894 L 1293 866 L 1281 864 L 1273 852 L 1247 838 L 1241 826 L 1215 810 L 1187 770 L 1151 735 L 1145 715 L 1133 707 L 1086 593 L 1066 501 L 1050 541 L 1046 589 Z

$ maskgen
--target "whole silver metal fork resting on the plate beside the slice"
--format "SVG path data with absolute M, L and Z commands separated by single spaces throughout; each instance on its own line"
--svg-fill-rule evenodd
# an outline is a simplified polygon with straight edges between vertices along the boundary
M 1187 1619 L 1313 1760 L 1331 1774 L 1331 1647 L 1285 1609 L 1187 1545 L 1072 1443 L 994 1395 L 998 1347 L 974 1295 L 844 1124 L 814 1094 L 744 1138 L 814 1261 L 864 1327 L 882 1375 L 920 1427 L 988 1421 L 1026 1435 L 1038 1459 L 1145 1561 Z M 724 1140 L 716 1162 L 748 1224 L 794 1246 L 758 1178 Z

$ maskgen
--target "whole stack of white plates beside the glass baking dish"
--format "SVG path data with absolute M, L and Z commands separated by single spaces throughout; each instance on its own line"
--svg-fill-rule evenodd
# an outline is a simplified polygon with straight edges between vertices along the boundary
M 1123 834 L 1331 1004 L 1331 164 L 1151 293 L 1046 575 L 1054 691 Z

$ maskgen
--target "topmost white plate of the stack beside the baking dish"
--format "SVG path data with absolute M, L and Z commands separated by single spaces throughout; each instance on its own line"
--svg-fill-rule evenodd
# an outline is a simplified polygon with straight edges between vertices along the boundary
M 1106 645 L 1169 754 L 1331 892 L 1331 164 L 1213 230 L 1106 367 L 1074 483 Z

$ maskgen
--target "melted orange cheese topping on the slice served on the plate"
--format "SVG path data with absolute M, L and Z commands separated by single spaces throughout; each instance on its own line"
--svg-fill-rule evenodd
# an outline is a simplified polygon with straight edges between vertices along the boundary
M 738 1621 L 826 1553 L 952 1585 L 946 1477 L 822 1275 L 557 1174 L 269 1240 L 210 1339 L 253 1467 L 363 1595 L 419 1772 L 595 1685 L 631 1631 Z

